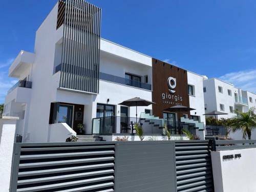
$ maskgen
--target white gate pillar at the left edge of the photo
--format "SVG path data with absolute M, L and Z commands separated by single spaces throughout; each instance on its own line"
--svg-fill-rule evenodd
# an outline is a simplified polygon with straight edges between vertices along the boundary
M 18 117 L 0 117 L 0 186 L 1 191 L 9 191 L 13 144 L 15 142 Z

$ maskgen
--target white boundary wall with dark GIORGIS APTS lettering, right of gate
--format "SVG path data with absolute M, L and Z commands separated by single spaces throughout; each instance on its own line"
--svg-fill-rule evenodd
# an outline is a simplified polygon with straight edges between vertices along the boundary
M 241 158 L 223 160 L 224 155 L 241 154 Z M 256 191 L 256 148 L 211 152 L 215 191 Z

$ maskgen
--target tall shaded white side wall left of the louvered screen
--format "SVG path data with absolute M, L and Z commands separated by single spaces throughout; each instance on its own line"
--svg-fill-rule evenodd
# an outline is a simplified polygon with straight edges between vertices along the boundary
M 32 66 L 33 83 L 28 123 L 25 126 L 26 142 L 47 142 L 50 103 L 56 98 L 59 73 L 53 75 L 58 4 L 36 31 L 35 61 Z M 57 78 L 56 78 L 57 77 Z

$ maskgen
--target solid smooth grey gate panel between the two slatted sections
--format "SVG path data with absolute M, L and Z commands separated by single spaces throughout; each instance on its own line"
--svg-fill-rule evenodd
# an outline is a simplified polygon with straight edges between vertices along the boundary
M 117 142 L 115 191 L 176 191 L 174 150 L 172 141 Z

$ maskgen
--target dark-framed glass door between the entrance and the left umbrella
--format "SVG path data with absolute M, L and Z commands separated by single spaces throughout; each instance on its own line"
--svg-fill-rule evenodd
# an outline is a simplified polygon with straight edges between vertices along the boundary
M 97 104 L 97 118 L 100 118 L 100 134 L 115 132 L 115 106 L 110 104 Z

